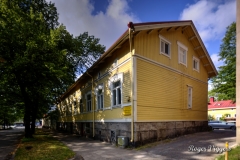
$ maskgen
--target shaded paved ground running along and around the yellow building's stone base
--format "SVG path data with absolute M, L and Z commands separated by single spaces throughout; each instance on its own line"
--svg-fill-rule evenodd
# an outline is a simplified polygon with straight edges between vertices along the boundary
M 219 155 L 219 153 L 216 153 L 216 147 L 224 148 L 226 141 L 229 142 L 229 146 L 235 144 L 236 131 L 214 130 L 212 132 L 185 135 L 140 151 L 117 148 L 108 143 L 86 139 L 77 135 L 57 134 L 56 137 L 76 152 L 77 156 L 75 160 L 82 159 L 81 156 L 84 160 L 212 160 Z M 191 145 L 195 149 L 206 151 L 202 151 L 201 153 L 191 152 L 189 151 L 189 146 Z M 214 146 L 215 149 L 211 148 L 210 150 L 210 145 Z

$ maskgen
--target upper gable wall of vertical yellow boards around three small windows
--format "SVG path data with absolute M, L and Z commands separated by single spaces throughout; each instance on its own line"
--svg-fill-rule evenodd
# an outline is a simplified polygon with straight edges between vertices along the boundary
M 167 39 L 171 43 L 171 58 L 160 54 L 160 38 L 159 34 Z M 188 47 L 187 52 L 187 67 L 178 63 L 178 45 L 177 41 Z M 183 72 L 189 76 L 196 77 L 202 81 L 207 82 L 208 74 L 200 60 L 200 72 L 192 69 L 193 56 L 199 57 L 192 47 L 187 37 L 182 34 L 181 30 L 177 31 L 156 31 L 147 34 L 147 32 L 141 32 L 134 38 L 134 47 L 136 54 L 144 56 L 148 59 L 159 62 L 163 65 L 169 66 L 180 72 Z

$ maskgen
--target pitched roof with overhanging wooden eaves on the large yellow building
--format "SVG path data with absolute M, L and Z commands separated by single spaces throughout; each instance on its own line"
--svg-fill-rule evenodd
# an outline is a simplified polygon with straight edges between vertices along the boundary
M 133 23 L 135 31 L 132 33 L 133 37 L 141 31 L 147 31 L 150 33 L 152 30 L 157 30 L 159 33 L 161 30 L 166 29 L 170 30 L 181 30 L 184 33 L 188 40 L 192 43 L 194 50 L 199 55 L 199 59 L 203 62 L 204 67 L 208 72 L 208 78 L 214 77 L 217 75 L 217 70 L 205 48 L 201 37 L 199 36 L 196 27 L 194 26 L 191 20 L 186 21 L 163 21 L 163 22 L 147 22 L 147 23 Z M 127 28 L 127 24 L 126 24 Z M 86 77 L 90 77 L 89 73 L 97 69 L 101 63 L 106 61 L 106 58 L 112 56 L 113 52 L 121 48 L 122 44 L 129 39 L 128 29 L 117 39 L 115 43 L 104 53 L 102 56 L 72 85 L 69 87 L 68 91 L 65 92 L 61 97 L 63 98 L 68 92 L 73 89 L 78 83 L 80 83 Z

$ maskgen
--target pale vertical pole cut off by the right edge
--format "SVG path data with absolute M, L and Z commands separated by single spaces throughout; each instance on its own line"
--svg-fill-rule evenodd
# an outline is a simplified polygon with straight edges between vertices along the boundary
M 240 145 L 240 0 L 236 4 L 236 143 Z

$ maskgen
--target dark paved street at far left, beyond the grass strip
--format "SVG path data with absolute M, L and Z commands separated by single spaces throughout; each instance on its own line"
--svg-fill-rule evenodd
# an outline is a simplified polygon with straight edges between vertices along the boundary
M 0 159 L 9 158 L 9 154 L 17 147 L 19 136 L 23 135 L 24 129 L 0 130 Z

